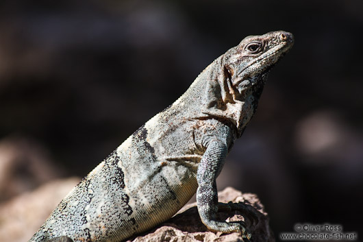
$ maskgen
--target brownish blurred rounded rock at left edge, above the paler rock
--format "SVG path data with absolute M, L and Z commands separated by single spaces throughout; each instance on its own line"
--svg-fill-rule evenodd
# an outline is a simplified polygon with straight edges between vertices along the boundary
M 63 169 L 40 143 L 22 136 L 1 139 L 0 202 L 63 175 Z

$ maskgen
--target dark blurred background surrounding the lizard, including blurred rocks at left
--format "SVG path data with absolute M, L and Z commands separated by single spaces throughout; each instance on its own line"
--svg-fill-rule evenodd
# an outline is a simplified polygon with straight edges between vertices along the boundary
M 29 239 L 64 196 L 45 186 L 85 176 L 215 58 L 280 29 L 295 46 L 218 189 L 256 193 L 277 239 L 295 223 L 363 236 L 363 1 L 16 0 L 0 3 L 0 237 Z

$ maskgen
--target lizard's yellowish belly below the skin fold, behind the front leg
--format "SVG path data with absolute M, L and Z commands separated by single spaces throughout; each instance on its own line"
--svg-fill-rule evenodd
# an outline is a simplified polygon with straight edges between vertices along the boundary
M 129 196 L 134 233 L 149 230 L 171 218 L 197 191 L 197 167 L 193 169 L 179 160 L 142 162 L 136 173 L 129 172 L 130 167 L 120 163 L 125 171 L 123 191 Z

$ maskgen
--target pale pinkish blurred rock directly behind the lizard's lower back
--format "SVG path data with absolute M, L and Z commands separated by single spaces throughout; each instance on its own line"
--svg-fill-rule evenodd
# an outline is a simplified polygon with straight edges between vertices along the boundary
M 0 240 L 28 241 L 79 180 L 55 180 L 0 204 Z

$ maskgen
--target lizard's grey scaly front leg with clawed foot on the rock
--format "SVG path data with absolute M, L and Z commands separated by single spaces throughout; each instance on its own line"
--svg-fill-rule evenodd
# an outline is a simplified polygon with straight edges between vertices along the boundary
M 197 171 L 198 212 L 201 221 L 209 230 L 224 233 L 241 232 L 243 237 L 249 239 L 251 234 L 245 232 L 245 227 L 242 224 L 216 220 L 218 212 L 216 178 L 223 167 L 227 151 L 227 143 L 221 139 L 214 138 L 208 144 L 203 158 L 201 158 Z

